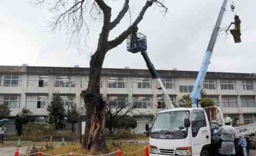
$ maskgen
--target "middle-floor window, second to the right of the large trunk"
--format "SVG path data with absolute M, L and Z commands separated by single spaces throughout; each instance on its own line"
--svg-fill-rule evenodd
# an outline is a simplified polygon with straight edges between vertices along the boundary
M 134 108 L 152 108 L 151 96 L 134 96 Z

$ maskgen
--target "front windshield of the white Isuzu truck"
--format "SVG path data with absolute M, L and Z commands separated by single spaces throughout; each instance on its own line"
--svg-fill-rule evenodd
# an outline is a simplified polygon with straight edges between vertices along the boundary
M 182 136 L 187 137 L 187 129 L 184 125 L 184 119 L 186 118 L 189 118 L 189 111 L 170 111 L 159 113 L 153 123 L 151 134 L 157 135 L 158 133 L 165 133 L 173 136 L 176 133 L 177 135 L 181 135 L 180 133 L 183 133 L 184 135 Z

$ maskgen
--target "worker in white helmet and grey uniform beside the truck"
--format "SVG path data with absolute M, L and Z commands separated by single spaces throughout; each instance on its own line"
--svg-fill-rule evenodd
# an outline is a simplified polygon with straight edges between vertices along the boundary
M 232 119 L 230 117 L 226 117 L 224 119 L 224 126 L 220 127 L 218 130 L 214 130 L 214 133 L 221 134 L 221 155 L 222 156 L 234 156 L 235 148 L 234 148 L 234 138 L 235 138 L 235 128 L 231 126 Z

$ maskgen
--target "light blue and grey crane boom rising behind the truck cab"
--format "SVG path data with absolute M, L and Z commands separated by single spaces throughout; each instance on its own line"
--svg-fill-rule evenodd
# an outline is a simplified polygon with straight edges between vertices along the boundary
M 224 12 L 226 11 L 227 2 L 228 2 L 228 0 L 223 1 L 223 4 L 221 6 L 216 25 L 213 29 L 211 39 L 209 41 L 206 53 L 204 54 L 202 65 L 201 65 L 200 70 L 197 75 L 197 79 L 194 82 L 193 92 L 191 93 L 191 96 L 190 96 L 190 99 L 192 102 L 192 108 L 201 107 L 198 102 L 202 99 L 202 94 L 201 94 L 202 84 L 206 77 L 206 72 L 207 72 L 208 66 L 210 64 L 211 55 L 213 52 L 214 45 L 216 43 L 216 39 L 218 37 L 218 33 L 219 33 L 219 29 L 220 29 L 220 25 L 221 25 L 221 21 L 222 21 Z

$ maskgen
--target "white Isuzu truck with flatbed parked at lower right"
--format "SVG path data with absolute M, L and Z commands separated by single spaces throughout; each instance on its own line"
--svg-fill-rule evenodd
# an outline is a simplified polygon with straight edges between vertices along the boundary
M 192 155 L 217 156 L 221 147 L 220 136 L 213 133 L 224 124 L 219 107 L 175 108 L 157 113 L 150 129 L 150 156 Z M 239 138 L 247 141 L 247 155 L 250 142 L 248 137 L 256 133 L 256 124 L 237 127 L 235 151 L 242 156 L 243 148 Z

